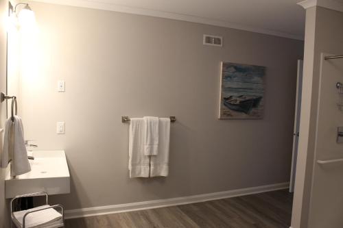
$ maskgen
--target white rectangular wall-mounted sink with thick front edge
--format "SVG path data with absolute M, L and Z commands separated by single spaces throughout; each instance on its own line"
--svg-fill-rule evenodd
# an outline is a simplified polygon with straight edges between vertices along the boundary
M 70 175 L 64 151 L 29 151 L 34 156 L 29 160 L 31 171 L 23 175 L 10 177 L 10 165 L 6 170 L 5 197 L 32 192 L 48 194 L 70 193 Z

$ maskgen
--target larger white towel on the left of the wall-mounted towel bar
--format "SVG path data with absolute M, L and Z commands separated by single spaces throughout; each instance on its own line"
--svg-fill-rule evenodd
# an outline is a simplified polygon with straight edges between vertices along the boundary
M 131 118 L 129 136 L 129 170 L 132 177 L 149 177 L 150 159 L 144 155 L 143 118 Z

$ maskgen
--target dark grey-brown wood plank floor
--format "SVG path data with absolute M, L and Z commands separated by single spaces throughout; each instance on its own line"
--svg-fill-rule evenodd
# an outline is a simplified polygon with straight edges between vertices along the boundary
M 152 210 L 66 220 L 67 228 L 227 227 L 289 228 L 293 195 L 287 190 Z

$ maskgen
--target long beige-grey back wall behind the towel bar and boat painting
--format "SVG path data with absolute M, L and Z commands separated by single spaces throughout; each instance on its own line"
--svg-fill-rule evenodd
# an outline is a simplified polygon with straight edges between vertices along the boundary
M 115 205 L 289 181 L 297 60 L 303 42 L 150 16 L 30 3 L 37 47 L 22 75 L 26 138 L 65 149 L 67 209 Z M 224 47 L 202 45 L 203 34 Z M 262 120 L 217 119 L 220 62 L 267 66 Z M 33 72 L 33 73 L 32 73 Z M 57 92 L 58 79 L 66 92 Z M 121 116 L 176 116 L 170 175 L 128 177 Z M 66 134 L 56 134 L 65 121 Z

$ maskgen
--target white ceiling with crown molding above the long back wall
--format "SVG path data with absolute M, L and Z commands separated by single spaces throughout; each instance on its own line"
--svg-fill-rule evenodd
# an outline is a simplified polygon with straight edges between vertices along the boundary
M 144 14 L 303 39 L 302 0 L 36 0 Z

